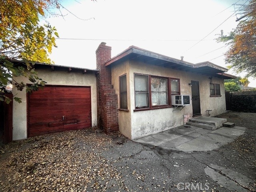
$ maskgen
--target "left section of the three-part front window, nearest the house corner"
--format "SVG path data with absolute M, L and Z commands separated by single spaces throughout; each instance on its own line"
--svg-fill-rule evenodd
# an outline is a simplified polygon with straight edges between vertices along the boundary
M 135 107 L 149 107 L 148 75 L 134 74 Z

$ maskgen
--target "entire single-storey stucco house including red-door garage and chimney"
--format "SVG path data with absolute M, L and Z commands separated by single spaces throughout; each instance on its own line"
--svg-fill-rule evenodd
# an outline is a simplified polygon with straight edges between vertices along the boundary
M 226 112 L 226 68 L 192 64 L 130 46 L 111 58 L 111 47 L 96 50 L 97 70 L 36 63 L 44 90 L 13 89 L 13 140 L 62 130 L 98 126 L 130 139 L 183 125 L 196 116 Z M 23 77 L 17 82 L 30 82 Z M 172 105 L 187 95 L 185 106 Z M 183 97 L 182 97 L 183 98 Z

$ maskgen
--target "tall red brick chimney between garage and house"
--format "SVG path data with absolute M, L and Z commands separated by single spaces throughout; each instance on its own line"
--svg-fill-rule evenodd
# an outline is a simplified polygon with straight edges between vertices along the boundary
M 111 67 L 104 64 L 111 58 L 111 47 L 102 42 L 96 50 L 98 126 L 106 134 L 119 130 L 117 95 L 111 84 Z

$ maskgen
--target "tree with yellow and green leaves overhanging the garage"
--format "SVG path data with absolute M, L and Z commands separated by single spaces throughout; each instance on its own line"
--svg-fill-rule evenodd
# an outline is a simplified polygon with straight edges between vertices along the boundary
M 48 22 L 40 24 L 51 8 L 60 8 L 58 0 L 0 0 L 0 92 L 6 92 L 7 84 L 13 88 L 34 91 L 46 82 L 38 78 L 33 69 L 34 62 L 50 63 L 48 54 L 56 47 L 56 29 Z M 23 65 L 15 65 L 13 60 L 22 60 Z M 12 77 L 25 76 L 30 86 L 18 83 Z M 10 98 L 0 97 L 10 102 Z M 20 98 L 14 100 L 21 102 Z

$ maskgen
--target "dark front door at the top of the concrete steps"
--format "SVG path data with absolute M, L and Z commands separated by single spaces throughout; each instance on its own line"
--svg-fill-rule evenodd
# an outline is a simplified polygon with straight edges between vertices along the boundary
M 191 81 L 193 117 L 201 115 L 199 82 Z

